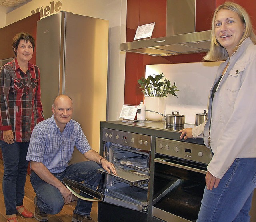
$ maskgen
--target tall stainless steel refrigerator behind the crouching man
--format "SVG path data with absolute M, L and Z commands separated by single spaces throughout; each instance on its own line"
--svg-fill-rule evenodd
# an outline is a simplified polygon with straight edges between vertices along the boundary
M 59 12 L 37 22 L 36 65 L 40 68 L 44 118 L 52 100 L 73 100 L 73 119 L 99 151 L 100 121 L 106 120 L 108 20 Z M 75 150 L 72 162 L 84 160 Z

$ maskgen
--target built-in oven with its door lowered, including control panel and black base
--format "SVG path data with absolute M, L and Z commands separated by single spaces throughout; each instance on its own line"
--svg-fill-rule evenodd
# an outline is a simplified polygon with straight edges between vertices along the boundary
M 102 128 L 101 138 L 100 154 L 114 164 L 117 175 L 98 169 L 102 180 L 96 191 L 75 181 L 64 182 L 101 200 L 99 222 L 124 222 L 132 218 L 147 222 L 152 136 Z

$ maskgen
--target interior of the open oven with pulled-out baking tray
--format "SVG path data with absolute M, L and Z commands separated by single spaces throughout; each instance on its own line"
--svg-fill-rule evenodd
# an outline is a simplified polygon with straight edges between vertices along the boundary
M 148 210 L 149 153 L 117 144 L 107 147 L 108 161 L 117 175 L 98 169 L 104 174 L 104 201 L 125 205 L 128 208 Z

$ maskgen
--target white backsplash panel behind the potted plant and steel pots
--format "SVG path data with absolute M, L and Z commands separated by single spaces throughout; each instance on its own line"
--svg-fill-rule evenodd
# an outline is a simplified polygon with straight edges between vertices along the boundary
M 176 98 L 169 95 L 165 98 L 165 114 L 179 111 L 186 115 L 185 122 L 195 124 L 195 113 L 203 113 L 208 109 L 209 92 L 214 82 L 218 66 L 222 62 L 194 62 L 179 64 L 146 65 L 146 74 L 163 73 L 175 82 L 178 90 Z

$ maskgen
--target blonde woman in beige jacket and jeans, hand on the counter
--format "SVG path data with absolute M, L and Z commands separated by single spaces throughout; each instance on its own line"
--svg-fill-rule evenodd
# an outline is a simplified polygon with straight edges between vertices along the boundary
M 256 36 L 240 5 L 214 12 L 206 60 L 222 61 L 210 90 L 208 120 L 181 130 L 180 138 L 204 138 L 213 157 L 198 222 L 249 222 L 256 187 Z

